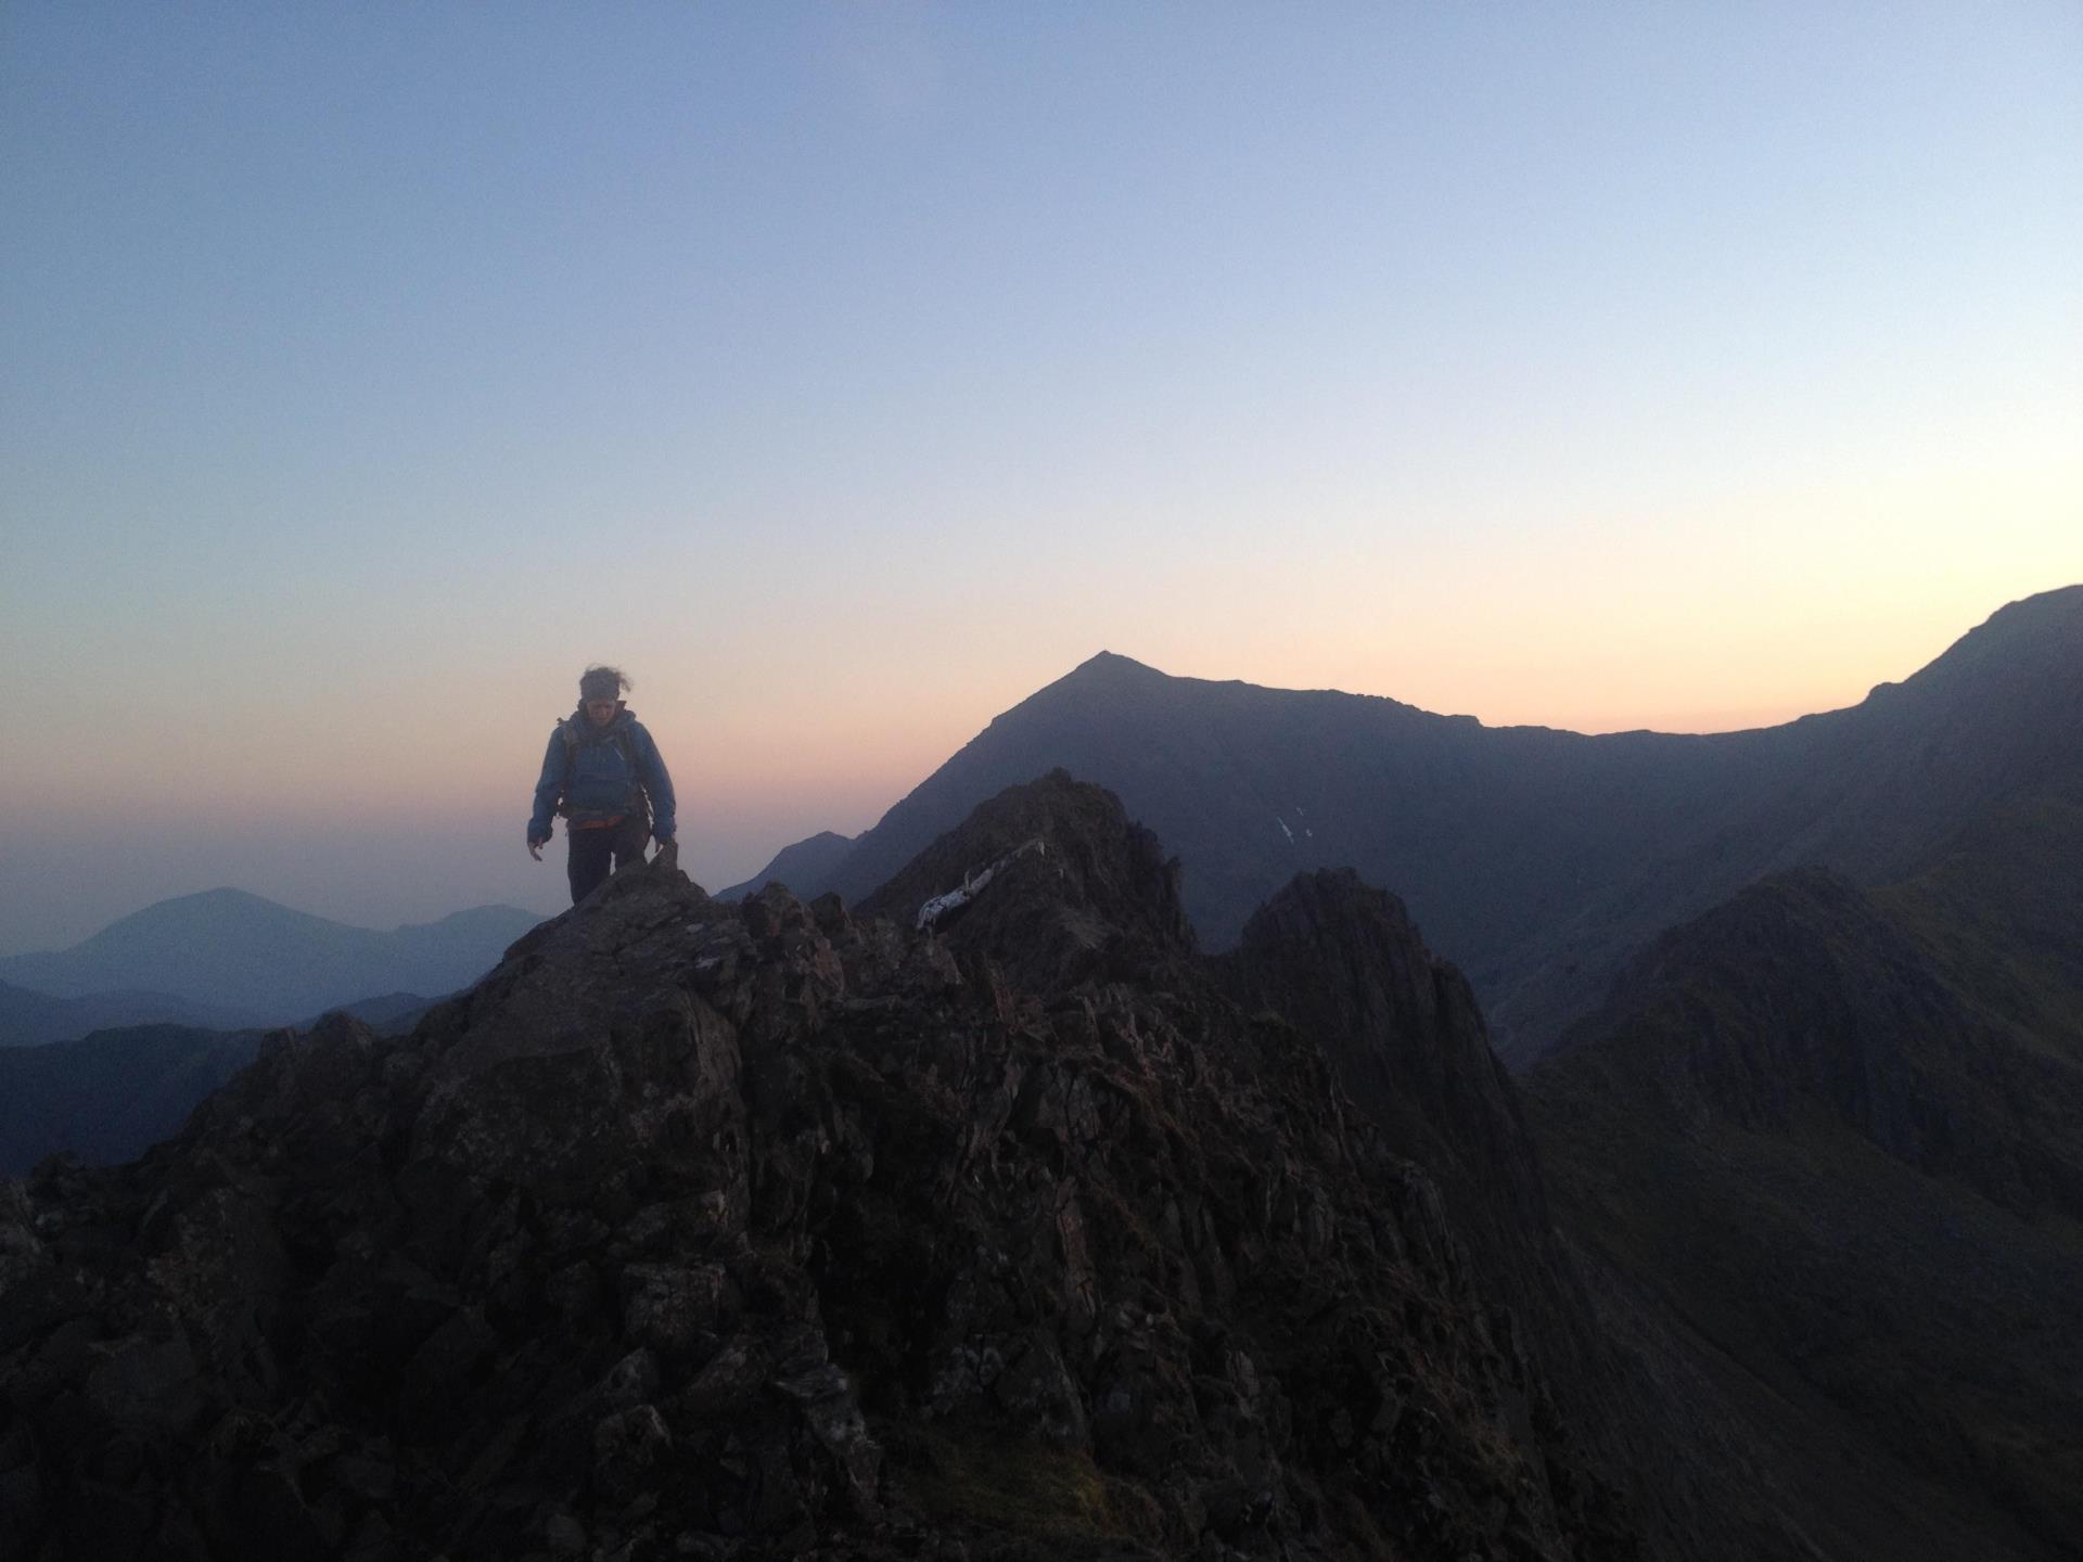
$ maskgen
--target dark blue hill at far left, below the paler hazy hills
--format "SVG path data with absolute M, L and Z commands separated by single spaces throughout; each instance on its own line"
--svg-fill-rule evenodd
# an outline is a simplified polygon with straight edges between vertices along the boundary
M 252 1062 L 258 1031 L 137 1025 L 0 1052 L 0 1177 L 56 1150 L 129 1160 L 179 1133 L 196 1102 Z

